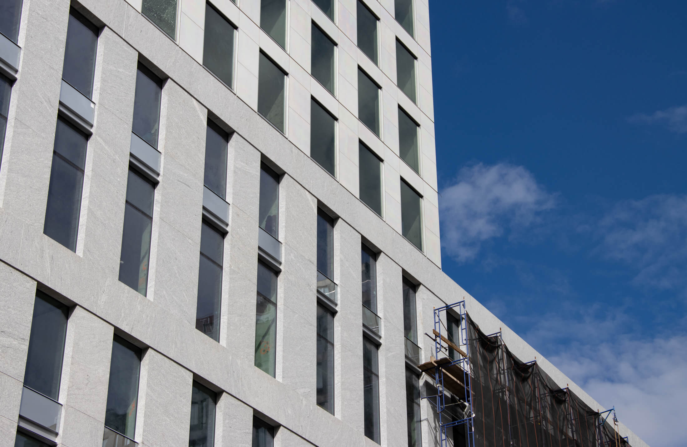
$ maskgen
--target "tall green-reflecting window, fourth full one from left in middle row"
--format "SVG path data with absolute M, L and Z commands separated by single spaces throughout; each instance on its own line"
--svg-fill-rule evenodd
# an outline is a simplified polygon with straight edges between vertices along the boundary
M 277 358 L 277 274 L 258 262 L 256 306 L 256 367 L 275 375 Z

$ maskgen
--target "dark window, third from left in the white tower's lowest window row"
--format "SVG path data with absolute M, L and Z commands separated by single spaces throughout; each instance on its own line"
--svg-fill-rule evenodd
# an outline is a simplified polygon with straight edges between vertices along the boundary
M 286 75 L 262 52 L 258 72 L 258 113 L 284 133 Z

